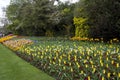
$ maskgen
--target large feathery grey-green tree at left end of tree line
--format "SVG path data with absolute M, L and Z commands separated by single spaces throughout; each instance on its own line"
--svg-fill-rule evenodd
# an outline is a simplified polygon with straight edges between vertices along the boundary
M 8 28 L 19 34 L 53 35 L 52 2 L 53 0 L 11 0 L 7 8 L 7 16 L 12 24 Z

